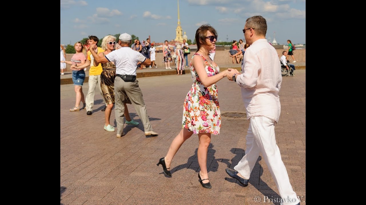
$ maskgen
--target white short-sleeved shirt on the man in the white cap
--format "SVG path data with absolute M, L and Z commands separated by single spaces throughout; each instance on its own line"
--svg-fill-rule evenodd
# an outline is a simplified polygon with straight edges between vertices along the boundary
M 122 47 L 105 55 L 108 61 L 116 65 L 116 74 L 136 76 L 138 62 L 144 62 L 146 57 L 130 47 Z

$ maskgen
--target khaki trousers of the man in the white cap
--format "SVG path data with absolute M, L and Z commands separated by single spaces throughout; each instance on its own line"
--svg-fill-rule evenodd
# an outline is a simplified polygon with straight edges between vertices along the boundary
M 124 124 L 124 93 L 130 98 L 132 105 L 134 106 L 138 116 L 141 119 L 145 132 L 153 131 L 149 116 L 147 116 L 146 105 L 143 102 L 142 92 L 138 85 L 138 80 L 135 82 L 124 82 L 122 78 L 116 76 L 114 81 L 115 86 L 115 117 L 117 122 L 117 134 L 122 135 Z

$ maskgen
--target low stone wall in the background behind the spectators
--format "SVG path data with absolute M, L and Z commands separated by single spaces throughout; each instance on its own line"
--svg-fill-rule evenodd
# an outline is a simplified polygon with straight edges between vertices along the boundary
M 285 51 L 284 49 L 276 49 L 279 57 L 282 55 L 282 51 Z M 192 58 L 192 55 L 194 54 L 194 51 L 191 51 L 191 54 L 188 54 L 188 64 Z M 71 57 L 74 54 L 66 54 L 66 61 L 70 61 Z M 232 57 L 229 56 L 229 50 L 219 50 L 216 51 L 214 61 L 217 63 L 217 65 L 228 65 L 232 64 Z M 294 51 L 294 58 L 297 62 L 306 62 L 306 49 L 298 49 Z M 292 62 L 292 58 L 289 57 L 290 62 Z M 156 53 L 156 60 L 155 60 L 156 66 L 158 68 L 165 67 L 163 62 L 163 53 Z M 174 61 L 170 63 L 171 67 L 175 67 Z M 89 67 L 87 67 L 87 70 L 89 70 Z M 71 71 L 70 65 L 66 64 L 66 70 L 65 71 Z

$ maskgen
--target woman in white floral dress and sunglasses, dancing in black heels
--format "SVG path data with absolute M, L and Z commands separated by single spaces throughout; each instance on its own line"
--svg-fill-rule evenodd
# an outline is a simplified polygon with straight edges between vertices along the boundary
M 210 189 L 207 173 L 207 150 L 211 134 L 220 134 L 221 114 L 218 101 L 216 82 L 226 76 L 228 70 L 219 73 L 219 66 L 209 58 L 217 41 L 217 32 L 209 24 L 200 26 L 195 35 L 197 53 L 192 56 L 190 71 L 193 85 L 188 92 L 183 106 L 182 130 L 174 138 L 167 155 L 159 160 L 157 165 L 163 166 L 163 171 L 171 175 L 169 169 L 172 159 L 180 146 L 193 134 L 198 134 L 197 158 L 201 171 L 199 181 L 205 188 Z M 204 183 L 205 182 L 205 183 Z

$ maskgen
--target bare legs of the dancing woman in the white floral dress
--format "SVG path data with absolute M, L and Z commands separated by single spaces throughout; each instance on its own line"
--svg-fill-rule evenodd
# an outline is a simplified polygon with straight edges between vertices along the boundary
M 169 147 L 168 153 L 164 158 L 165 165 L 170 167 L 170 163 L 173 160 L 174 155 L 178 152 L 180 146 L 186 141 L 188 138 L 192 136 L 193 132 L 188 131 L 187 128 L 183 128 L 179 134 L 174 138 L 172 144 Z M 197 158 L 199 168 L 201 169 L 201 178 L 208 179 L 207 173 L 207 149 L 211 142 L 211 134 L 210 133 L 199 133 L 198 134 L 199 145 L 197 151 Z M 203 183 L 208 183 L 209 180 L 202 181 Z

